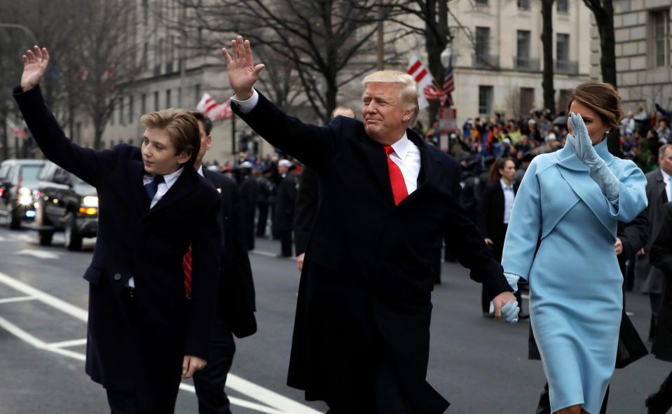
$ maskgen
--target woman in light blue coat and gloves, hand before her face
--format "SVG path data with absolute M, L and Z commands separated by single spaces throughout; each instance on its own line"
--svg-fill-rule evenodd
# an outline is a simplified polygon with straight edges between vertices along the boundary
M 579 85 L 564 148 L 533 160 L 509 221 L 502 265 L 514 289 L 519 278 L 530 283 L 553 413 L 599 413 L 614 371 L 623 307 L 616 226 L 647 205 L 643 172 L 607 151 L 622 117 L 611 85 Z

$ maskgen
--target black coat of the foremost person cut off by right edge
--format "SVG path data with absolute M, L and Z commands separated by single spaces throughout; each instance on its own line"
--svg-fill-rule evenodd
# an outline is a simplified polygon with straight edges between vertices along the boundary
M 651 352 L 672 362 L 672 203 L 663 207 L 661 228 L 651 247 L 651 263 L 664 273 L 663 301 L 658 315 L 656 341 Z

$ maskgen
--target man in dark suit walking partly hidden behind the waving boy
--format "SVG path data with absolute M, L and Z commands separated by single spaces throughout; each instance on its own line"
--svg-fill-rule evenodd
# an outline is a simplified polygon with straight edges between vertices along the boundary
M 194 167 L 221 194 L 219 225 L 222 236 L 219 296 L 208 364 L 193 376 L 193 385 L 198 397 L 198 413 L 231 414 L 224 385 L 235 354 L 233 335 L 245 338 L 256 332 L 254 282 L 240 219 L 238 186 L 233 179 L 203 168 L 203 157 L 212 145 L 212 121 L 201 112 L 192 112 L 192 115 L 198 120 L 200 130 L 200 151 Z

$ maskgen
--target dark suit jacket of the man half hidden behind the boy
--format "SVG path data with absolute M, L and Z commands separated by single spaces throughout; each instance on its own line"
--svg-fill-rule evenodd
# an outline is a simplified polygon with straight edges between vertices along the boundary
M 229 329 L 238 338 L 256 332 L 254 281 L 240 217 L 238 185 L 219 172 L 203 169 L 203 177 L 221 194 L 222 249 L 219 256 L 219 306 Z

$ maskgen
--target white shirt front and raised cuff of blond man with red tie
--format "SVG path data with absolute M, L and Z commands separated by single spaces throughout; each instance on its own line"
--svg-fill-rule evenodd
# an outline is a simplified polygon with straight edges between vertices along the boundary
M 238 104 L 242 113 L 248 113 L 254 109 L 259 102 L 259 92 L 252 90 L 252 96 L 245 101 L 241 101 L 233 95 L 231 100 Z M 404 183 L 409 195 L 418 188 L 418 175 L 420 175 L 420 149 L 413 144 L 404 132 L 404 136 L 399 141 L 392 144 L 394 153 L 390 154 L 390 160 L 399 166 L 404 176 Z

